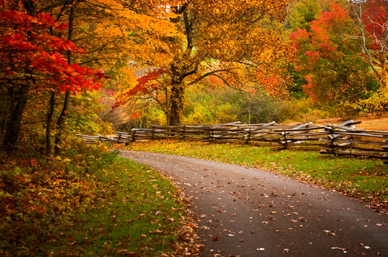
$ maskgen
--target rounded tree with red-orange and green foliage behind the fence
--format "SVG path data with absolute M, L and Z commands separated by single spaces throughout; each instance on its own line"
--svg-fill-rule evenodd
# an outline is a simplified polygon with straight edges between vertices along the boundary
M 314 101 L 336 104 L 365 97 L 373 78 L 357 41 L 348 36 L 354 31 L 348 11 L 333 4 L 310 28 L 291 34 L 299 50 L 296 70 L 307 81 L 304 91 Z

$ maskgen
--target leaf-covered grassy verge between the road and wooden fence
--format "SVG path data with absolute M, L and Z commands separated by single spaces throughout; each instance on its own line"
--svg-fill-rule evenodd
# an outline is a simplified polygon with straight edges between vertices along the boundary
M 269 147 L 188 141 L 131 143 L 127 150 L 185 155 L 258 167 L 388 206 L 388 165 L 372 158 L 336 157 L 316 151 L 274 151 Z

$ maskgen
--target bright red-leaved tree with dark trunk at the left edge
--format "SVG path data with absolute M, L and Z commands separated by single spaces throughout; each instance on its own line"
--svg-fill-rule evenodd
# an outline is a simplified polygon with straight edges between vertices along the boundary
M 24 12 L 27 10 L 27 12 Z M 94 90 L 101 71 L 67 63 L 66 54 L 81 52 L 69 40 L 53 36 L 49 29 L 63 31 L 65 24 L 49 14 L 37 13 L 33 1 L 23 6 L 10 2 L 0 11 L 1 94 L 6 101 L 2 147 L 15 149 L 22 116 L 31 95 L 42 92 Z

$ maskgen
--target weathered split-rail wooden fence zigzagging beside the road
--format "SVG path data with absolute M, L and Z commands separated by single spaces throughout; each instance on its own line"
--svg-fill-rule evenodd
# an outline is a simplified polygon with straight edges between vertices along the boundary
M 323 154 L 359 155 L 382 158 L 388 164 L 388 131 L 356 129 L 360 121 L 341 124 L 282 126 L 275 121 L 266 124 L 242 124 L 240 121 L 219 125 L 185 124 L 162 126 L 147 124 L 146 129 L 117 132 L 113 136 L 77 135 L 84 143 L 96 140 L 129 143 L 139 140 L 178 139 L 214 143 L 266 145 L 278 149 L 319 150 Z

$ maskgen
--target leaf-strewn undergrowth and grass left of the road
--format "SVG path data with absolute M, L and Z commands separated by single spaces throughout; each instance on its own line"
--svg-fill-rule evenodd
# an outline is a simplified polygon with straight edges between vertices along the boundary
M 2 256 L 166 257 L 197 250 L 180 191 L 104 146 L 76 146 L 51 159 L 2 158 Z

